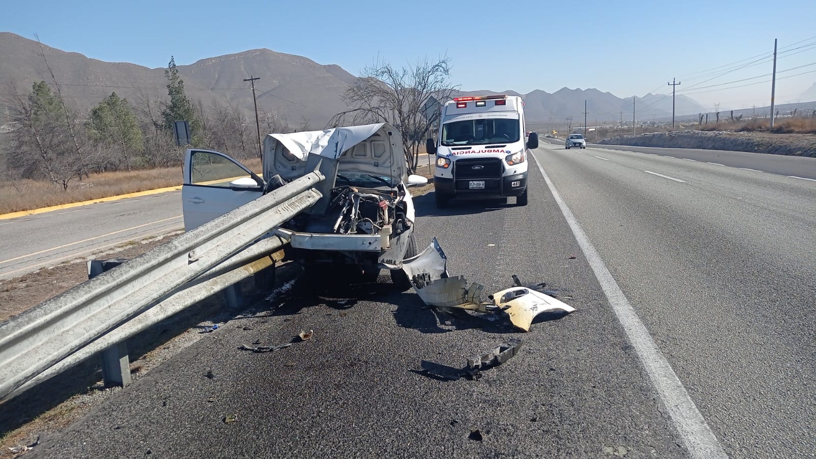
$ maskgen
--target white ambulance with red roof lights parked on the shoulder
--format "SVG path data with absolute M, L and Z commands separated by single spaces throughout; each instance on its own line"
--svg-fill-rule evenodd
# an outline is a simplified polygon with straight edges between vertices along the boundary
M 508 196 L 527 205 L 527 150 L 539 148 L 539 136 L 525 139 L 521 97 L 456 97 L 442 107 L 439 132 L 426 145 L 437 158 L 437 207 L 451 198 Z

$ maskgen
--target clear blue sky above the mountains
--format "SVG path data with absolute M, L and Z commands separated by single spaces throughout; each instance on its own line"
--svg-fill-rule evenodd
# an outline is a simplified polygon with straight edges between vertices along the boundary
M 676 77 L 679 92 L 724 108 L 768 105 L 769 82 L 734 86 L 769 78 L 734 81 L 770 74 L 770 62 L 708 82 L 703 80 L 718 74 L 700 72 L 761 59 L 773 51 L 774 38 L 789 50 L 778 70 L 816 64 L 816 46 L 790 51 L 816 43 L 814 0 L 11 0 L 2 7 L 0 30 L 26 38 L 38 33 L 42 42 L 65 51 L 149 67 L 166 66 L 171 55 L 184 65 L 259 47 L 337 64 L 352 74 L 378 55 L 395 65 L 446 55 L 453 82 L 465 90 L 596 87 L 628 97 L 666 93 Z M 778 77 L 813 70 L 816 65 Z M 816 72 L 779 79 L 777 102 L 795 102 L 814 82 Z M 721 83 L 727 84 L 709 87 Z

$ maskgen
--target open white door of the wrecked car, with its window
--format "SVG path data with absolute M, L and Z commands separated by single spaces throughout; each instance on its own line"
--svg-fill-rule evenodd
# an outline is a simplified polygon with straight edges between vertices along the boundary
M 184 230 L 193 230 L 261 194 L 264 180 L 226 154 L 188 149 L 184 155 Z

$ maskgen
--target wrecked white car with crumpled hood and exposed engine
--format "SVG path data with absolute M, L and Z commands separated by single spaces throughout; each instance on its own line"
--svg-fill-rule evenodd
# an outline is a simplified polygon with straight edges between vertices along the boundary
M 407 174 L 395 127 L 378 123 L 269 134 L 262 167 L 264 178 L 226 154 L 188 149 L 182 187 L 185 230 L 319 168 L 326 176 L 316 186 L 323 198 L 278 230 L 290 238 L 293 250 L 287 257 L 305 265 L 354 265 L 370 280 L 388 269 L 397 287 L 410 287 L 400 270 L 402 260 L 417 252 L 407 187 L 428 179 Z

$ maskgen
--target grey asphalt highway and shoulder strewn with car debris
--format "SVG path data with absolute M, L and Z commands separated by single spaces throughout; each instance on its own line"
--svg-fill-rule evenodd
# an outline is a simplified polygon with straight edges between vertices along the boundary
M 573 314 L 522 333 L 387 275 L 302 278 L 26 454 L 814 457 L 816 182 L 677 152 L 543 145 L 526 207 L 415 198 L 451 274 L 545 282 Z M 419 371 L 511 337 L 476 381 Z

